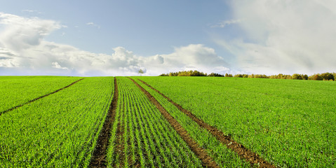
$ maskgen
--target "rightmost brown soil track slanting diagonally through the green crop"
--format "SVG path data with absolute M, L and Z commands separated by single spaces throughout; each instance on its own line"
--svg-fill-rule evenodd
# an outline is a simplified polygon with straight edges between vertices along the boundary
M 140 80 L 140 79 L 137 79 L 137 80 Z M 182 106 L 173 102 L 172 99 L 170 99 L 169 97 L 166 97 L 166 95 L 161 93 L 159 90 L 156 90 L 154 87 L 152 87 L 151 85 L 149 85 L 145 81 L 143 81 L 143 80 L 140 80 L 140 81 L 142 83 L 144 83 L 145 85 L 147 85 L 148 87 L 150 87 L 152 90 L 155 90 L 156 92 L 161 94 L 164 98 L 168 99 L 168 101 L 171 104 L 174 104 L 177 107 L 177 109 L 179 109 L 180 111 L 185 113 L 187 116 L 189 116 L 189 118 L 194 120 L 199 126 L 208 130 L 208 132 L 213 134 L 213 136 L 216 137 L 218 141 L 220 141 L 220 142 L 222 142 L 222 144 L 226 145 L 227 148 L 230 148 L 232 151 L 237 153 L 241 159 L 246 160 L 246 162 L 250 162 L 251 166 L 259 165 L 259 167 L 275 167 L 274 165 L 271 165 L 271 163 L 262 159 L 259 155 L 257 155 L 257 153 L 253 153 L 252 151 L 245 148 L 245 146 L 243 146 L 241 144 L 238 144 L 238 142 L 231 139 L 231 137 L 229 137 L 227 135 L 224 135 L 224 133 L 222 131 L 218 130 L 216 127 L 213 127 L 213 126 L 209 125 L 208 123 L 205 123 L 203 120 L 197 118 L 190 111 L 187 111 L 186 109 L 183 109 Z

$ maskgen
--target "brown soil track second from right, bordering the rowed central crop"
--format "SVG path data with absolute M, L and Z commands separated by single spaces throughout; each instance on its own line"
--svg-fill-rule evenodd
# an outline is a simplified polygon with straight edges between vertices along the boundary
M 218 167 L 216 165 L 216 162 L 214 162 L 213 159 L 210 158 L 208 153 L 206 153 L 206 151 L 203 148 L 201 148 L 201 146 L 199 146 L 199 144 L 197 144 L 197 142 L 189 136 L 188 132 L 184 130 L 184 128 L 180 125 L 180 123 L 178 123 L 177 120 L 173 118 L 173 116 L 170 116 L 170 113 L 168 113 L 168 111 L 166 111 L 166 109 L 164 109 L 163 106 L 161 106 L 161 104 L 152 96 L 152 94 L 150 94 L 149 92 L 147 92 L 147 90 L 145 90 L 143 87 L 137 84 L 135 80 L 131 78 L 129 79 L 132 80 L 133 83 L 135 83 L 135 85 L 137 85 L 137 87 L 139 87 L 142 90 L 142 92 L 146 94 L 146 96 L 156 106 L 156 108 L 159 109 L 159 111 L 166 118 L 166 120 L 168 120 L 168 123 L 170 123 L 170 125 L 174 128 L 174 130 L 176 130 L 177 134 L 179 134 L 180 137 L 182 137 L 182 139 L 187 143 L 189 148 L 191 148 L 191 151 L 193 151 L 197 155 L 197 157 L 202 161 L 203 167 Z

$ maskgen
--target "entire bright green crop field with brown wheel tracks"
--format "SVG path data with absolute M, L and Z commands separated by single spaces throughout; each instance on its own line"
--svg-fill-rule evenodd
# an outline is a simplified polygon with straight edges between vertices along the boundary
M 0 167 L 336 167 L 336 83 L 0 76 Z

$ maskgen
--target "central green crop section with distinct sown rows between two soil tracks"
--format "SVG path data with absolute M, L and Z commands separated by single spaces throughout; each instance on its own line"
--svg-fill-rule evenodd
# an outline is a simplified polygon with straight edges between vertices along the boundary
M 201 162 L 142 91 L 128 78 L 118 77 L 118 121 L 123 127 L 123 154 L 110 141 L 109 167 L 201 167 Z M 120 142 L 119 142 L 120 143 Z

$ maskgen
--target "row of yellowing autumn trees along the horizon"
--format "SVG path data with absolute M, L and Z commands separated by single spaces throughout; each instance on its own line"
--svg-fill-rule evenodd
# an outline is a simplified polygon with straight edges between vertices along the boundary
M 294 73 L 293 75 L 285 75 L 279 73 L 278 75 L 267 76 L 264 74 L 236 74 L 232 75 L 225 73 L 225 75 L 219 73 L 203 73 L 200 71 L 178 71 L 170 73 L 162 73 L 160 76 L 217 76 L 217 77 L 234 77 L 234 78 L 277 78 L 277 79 L 297 79 L 297 80 L 336 80 L 336 73 L 315 73 L 308 76 L 307 74 Z

